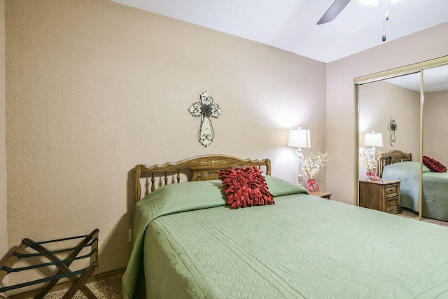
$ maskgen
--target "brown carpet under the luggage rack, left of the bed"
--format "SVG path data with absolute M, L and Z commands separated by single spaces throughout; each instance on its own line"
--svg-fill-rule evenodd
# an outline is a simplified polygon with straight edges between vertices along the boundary
M 109 279 L 104 279 L 102 281 L 91 282 L 87 284 L 90 291 L 97 295 L 98 299 L 123 299 L 123 292 L 121 291 L 121 277 L 118 275 L 116 277 L 111 277 Z M 59 299 L 66 293 L 66 290 L 56 291 L 48 293 L 43 297 L 44 299 Z M 78 291 L 73 299 L 85 299 L 85 295 Z

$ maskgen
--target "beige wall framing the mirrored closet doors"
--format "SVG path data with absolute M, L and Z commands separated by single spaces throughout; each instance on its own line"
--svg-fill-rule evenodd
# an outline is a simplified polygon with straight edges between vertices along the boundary
M 356 202 L 353 78 L 448 55 L 447 34 L 445 22 L 327 64 L 327 151 L 337 157 L 326 169 L 327 189 L 336 200 Z

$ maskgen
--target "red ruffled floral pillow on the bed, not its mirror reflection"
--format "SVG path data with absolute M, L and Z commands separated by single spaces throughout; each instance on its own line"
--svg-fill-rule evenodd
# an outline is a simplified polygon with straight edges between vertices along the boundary
M 219 172 L 230 209 L 274 204 L 265 177 L 258 167 L 223 169 Z

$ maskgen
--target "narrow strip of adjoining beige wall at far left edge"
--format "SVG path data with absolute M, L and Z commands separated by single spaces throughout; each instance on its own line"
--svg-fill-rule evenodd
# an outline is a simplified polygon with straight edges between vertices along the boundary
M 8 251 L 5 122 L 5 1 L 0 1 L 0 263 Z

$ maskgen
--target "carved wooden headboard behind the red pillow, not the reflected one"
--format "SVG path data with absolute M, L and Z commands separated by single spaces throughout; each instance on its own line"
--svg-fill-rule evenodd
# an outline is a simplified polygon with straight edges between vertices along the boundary
M 141 199 L 141 179 L 146 179 L 144 195 L 153 192 L 156 188 L 155 178 L 158 177 L 173 183 L 181 181 L 181 174 L 186 176 L 186 181 L 207 181 L 218 179 L 218 172 L 221 169 L 258 166 L 266 175 L 271 175 L 271 160 L 251 160 L 232 157 L 231 155 L 199 155 L 187 158 L 179 162 L 166 162 L 163 165 L 137 165 L 134 167 L 134 202 Z M 151 187 L 148 179 L 151 178 Z

